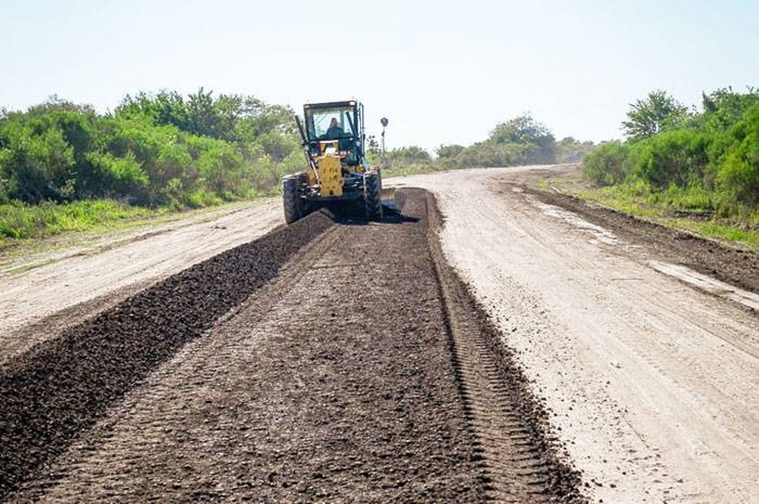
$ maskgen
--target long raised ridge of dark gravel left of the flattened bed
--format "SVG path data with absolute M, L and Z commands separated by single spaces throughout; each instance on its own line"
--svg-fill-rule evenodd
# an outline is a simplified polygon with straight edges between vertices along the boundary
M 0 369 L 0 498 L 333 225 L 313 213 L 192 266 Z

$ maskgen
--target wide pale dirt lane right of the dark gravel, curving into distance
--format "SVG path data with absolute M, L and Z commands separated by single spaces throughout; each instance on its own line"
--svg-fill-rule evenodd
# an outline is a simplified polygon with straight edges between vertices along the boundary
M 756 313 L 502 185 L 530 170 L 397 183 L 436 194 L 446 256 L 518 351 L 594 498 L 756 502 Z

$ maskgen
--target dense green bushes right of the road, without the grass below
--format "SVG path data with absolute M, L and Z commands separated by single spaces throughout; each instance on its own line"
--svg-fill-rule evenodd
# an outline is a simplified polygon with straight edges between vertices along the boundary
M 759 206 L 759 93 L 728 89 L 703 98 L 701 112 L 691 113 L 661 91 L 639 100 L 624 123 L 628 140 L 603 143 L 588 153 L 585 175 L 599 185 L 644 187 L 680 206 L 698 203 L 729 215 L 754 212 Z

